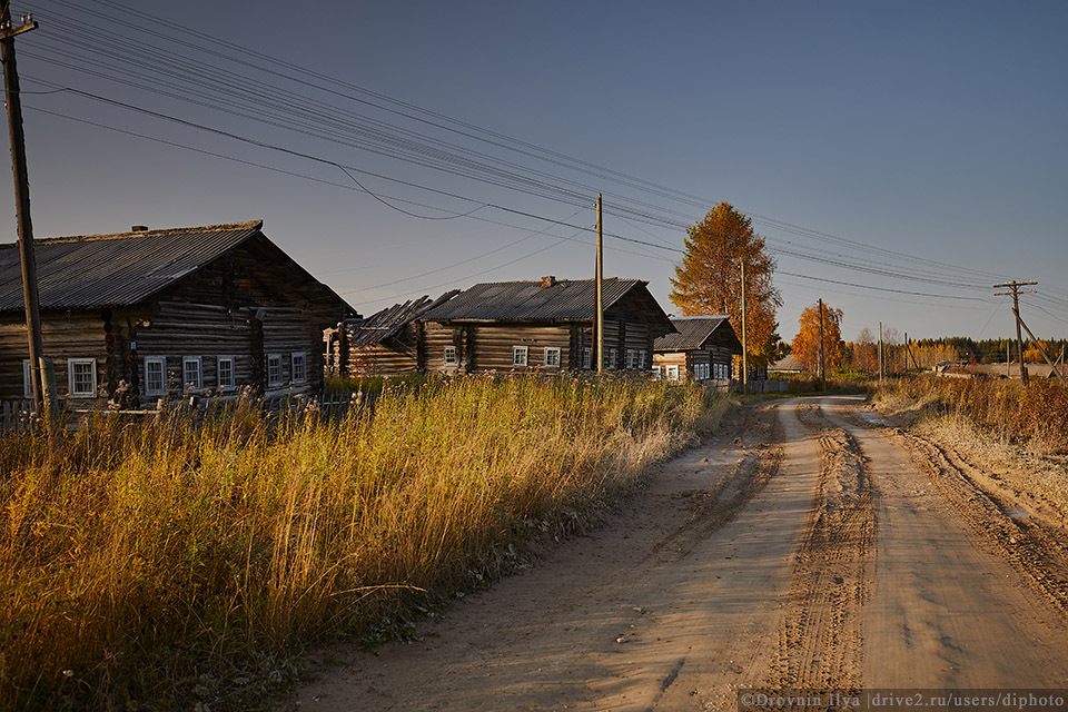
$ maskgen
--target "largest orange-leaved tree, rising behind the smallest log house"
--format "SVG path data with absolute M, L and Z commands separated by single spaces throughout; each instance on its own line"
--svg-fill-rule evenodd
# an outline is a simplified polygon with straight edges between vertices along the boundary
M 745 332 L 750 363 L 774 359 L 775 312 L 782 297 L 771 283 L 775 260 L 752 221 L 730 204 L 721 202 L 696 225 L 686 228 L 686 253 L 675 267 L 669 295 L 683 315 L 722 314 L 742 338 L 742 271 L 745 263 Z

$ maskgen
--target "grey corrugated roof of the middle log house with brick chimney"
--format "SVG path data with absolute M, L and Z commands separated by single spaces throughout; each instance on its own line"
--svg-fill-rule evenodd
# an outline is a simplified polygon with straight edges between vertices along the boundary
M 419 319 L 447 320 L 590 320 L 593 318 L 596 287 L 593 279 L 562 279 L 550 287 L 541 281 L 496 281 L 478 284 L 424 313 Z M 604 308 L 609 309 L 631 289 L 645 290 L 641 279 L 611 277 L 602 284 Z M 650 296 L 652 299 L 652 296 Z

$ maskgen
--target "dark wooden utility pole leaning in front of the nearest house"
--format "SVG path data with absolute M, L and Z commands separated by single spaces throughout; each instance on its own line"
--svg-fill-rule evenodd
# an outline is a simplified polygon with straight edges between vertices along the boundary
M 22 263 L 22 303 L 26 306 L 26 332 L 30 348 L 30 380 L 33 407 L 38 416 L 44 412 L 41 385 L 41 309 L 37 293 L 37 263 L 33 259 L 33 225 L 30 221 L 30 180 L 26 170 L 26 137 L 22 134 L 22 103 L 19 70 L 14 63 L 14 37 L 37 28 L 31 19 L 11 27 L 11 3 L 3 3 L 0 14 L 0 59 L 3 61 L 4 102 L 8 107 L 8 135 L 11 139 L 11 171 L 14 176 L 14 212 L 19 226 L 19 259 Z

